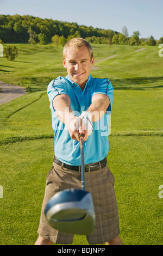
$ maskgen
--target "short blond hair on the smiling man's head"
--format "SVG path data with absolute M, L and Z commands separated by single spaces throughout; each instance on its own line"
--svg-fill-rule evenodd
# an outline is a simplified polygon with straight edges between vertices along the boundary
M 87 48 L 87 50 L 89 50 L 90 53 L 90 58 L 92 60 L 93 58 L 93 50 L 92 50 L 92 46 L 89 44 L 89 42 L 87 42 L 85 39 L 83 38 L 73 38 L 70 41 L 68 41 L 65 46 L 64 46 L 64 50 L 63 50 L 63 58 L 66 58 L 66 53 L 67 53 L 67 49 L 68 47 L 72 46 L 75 49 L 79 49 L 82 46 L 85 46 Z

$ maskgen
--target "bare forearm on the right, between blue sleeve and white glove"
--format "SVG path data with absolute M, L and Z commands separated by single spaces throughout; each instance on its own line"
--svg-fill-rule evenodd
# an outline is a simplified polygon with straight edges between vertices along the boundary
M 87 109 L 87 112 L 91 113 L 92 122 L 96 122 L 103 117 L 109 107 L 110 100 L 105 94 L 95 94 L 92 97 L 92 103 Z

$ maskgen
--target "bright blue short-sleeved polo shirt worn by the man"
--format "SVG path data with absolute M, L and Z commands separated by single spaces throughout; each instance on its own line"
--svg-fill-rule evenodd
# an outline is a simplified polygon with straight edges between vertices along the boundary
M 103 117 L 93 123 L 93 133 L 84 142 L 85 164 L 95 163 L 103 160 L 109 151 L 109 114 L 112 109 L 113 87 L 108 78 L 93 78 L 89 75 L 85 88 L 82 89 L 74 83 L 70 77 L 58 77 L 48 85 L 47 94 L 52 111 L 52 127 L 54 130 L 54 154 L 61 162 L 72 166 L 80 166 L 80 142 L 70 137 L 65 124 L 61 123 L 55 114 L 53 99 L 59 94 L 70 97 L 71 108 L 74 115 L 79 117 L 83 111 L 87 111 L 91 105 L 92 96 L 105 94 L 110 99 L 110 105 Z

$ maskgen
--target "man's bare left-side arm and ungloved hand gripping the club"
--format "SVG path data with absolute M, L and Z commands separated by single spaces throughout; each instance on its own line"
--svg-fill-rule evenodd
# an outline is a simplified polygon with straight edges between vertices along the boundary
M 67 126 L 72 139 L 79 141 L 79 133 L 84 134 L 84 141 L 88 138 L 87 131 L 82 129 L 82 119 L 73 114 L 70 107 L 70 97 L 66 94 L 60 94 L 53 100 L 53 107 L 59 120 Z

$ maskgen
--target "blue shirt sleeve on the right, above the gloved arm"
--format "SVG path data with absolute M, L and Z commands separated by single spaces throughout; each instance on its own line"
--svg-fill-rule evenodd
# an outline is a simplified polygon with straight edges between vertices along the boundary
M 112 87 L 112 84 L 108 78 L 104 78 L 104 79 L 99 78 L 96 80 L 96 87 L 95 87 L 95 91 L 94 91 L 93 95 L 105 94 L 109 97 L 110 105 L 109 105 L 107 111 L 110 111 L 110 113 L 112 111 L 113 90 L 114 90 L 114 88 Z

